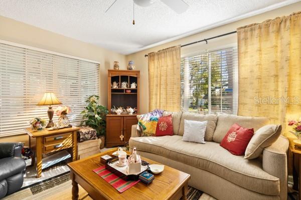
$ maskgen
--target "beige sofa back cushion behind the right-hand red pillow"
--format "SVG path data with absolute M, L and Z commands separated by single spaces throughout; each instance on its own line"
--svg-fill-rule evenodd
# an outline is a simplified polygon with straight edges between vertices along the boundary
M 237 123 L 246 128 L 254 128 L 254 131 L 270 123 L 267 117 L 237 116 L 234 114 L 219 114 L 216 128 L 213 133 L 213 141 L 221 143 L 229 128 Z

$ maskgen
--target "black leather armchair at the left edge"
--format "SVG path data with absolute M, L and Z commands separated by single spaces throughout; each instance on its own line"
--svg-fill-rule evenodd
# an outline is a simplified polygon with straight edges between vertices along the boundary
M 22 147 L 22 143 L 0 143 L 0 199 L 23 185 L 26 163 L 21 157 Z

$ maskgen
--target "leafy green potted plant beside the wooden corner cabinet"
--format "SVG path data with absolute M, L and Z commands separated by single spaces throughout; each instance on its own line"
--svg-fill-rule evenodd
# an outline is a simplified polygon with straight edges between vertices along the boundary
M 85 102 L 87 102 L 88 105 L 85 106 L 85 109 L 81 112 L 81 114 L 83 114 L 81 125 L 85 123 L 85 125 L 96 130 L 98 138 L 101 139 L 100 148 L 103 148 L 106 130 L 105 115 L 108 113 L 108 109 L 99 104 L 98 95 L 89 96 Z

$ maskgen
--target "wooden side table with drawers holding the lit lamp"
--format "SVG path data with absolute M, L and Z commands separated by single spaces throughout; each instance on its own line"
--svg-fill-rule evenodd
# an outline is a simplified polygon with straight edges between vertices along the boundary
M 77 130 L 79 127 L 62 128 L 58 130 L 43 129 L 40 131 L 26 128 L 30 136 L 29 145 L 35 152 L 37 177 L 42 174 L 42 153 L 49 153 L 65 148 L 72 148 L 72 160 L 77 158 Z M 33 158 L 35 160 L 35 158 Z

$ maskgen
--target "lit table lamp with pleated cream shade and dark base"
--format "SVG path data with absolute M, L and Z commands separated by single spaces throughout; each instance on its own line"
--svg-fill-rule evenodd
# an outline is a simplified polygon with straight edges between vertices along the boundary
M 49 122 L 47 124 L 47 128 L 54 126 L 54 123 L 52 121 L 52 117 L 53 117 L 53 109 L 51 105 L 57 105 L 57 104 L 62 104 L 61 101 L 55 96 L 55 94 L 53 92 L 45 92 L 44 96 L 42 97 L 42 99 L 40 100 L 40 102 L 37 105 L 49 105 L 48 107 L 48 118 L 49 118 Z

